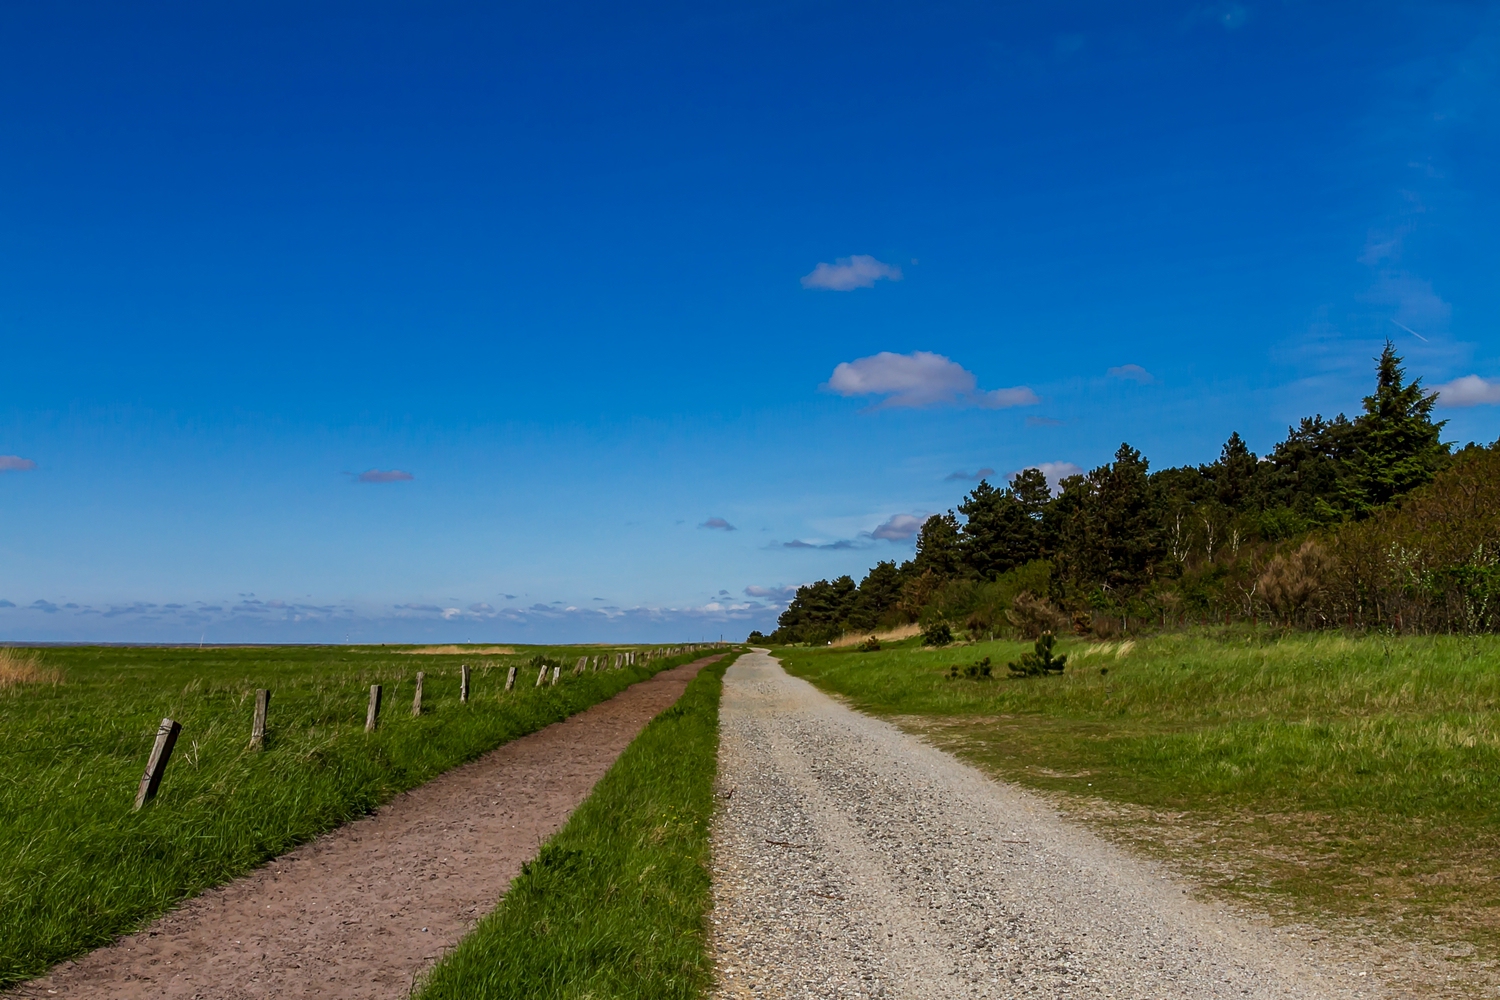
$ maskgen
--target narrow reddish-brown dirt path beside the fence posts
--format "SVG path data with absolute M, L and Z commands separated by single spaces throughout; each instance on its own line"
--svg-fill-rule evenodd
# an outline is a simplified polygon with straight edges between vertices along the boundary
M 6 996 L 405 997 L 714 660 L 448 771 Z

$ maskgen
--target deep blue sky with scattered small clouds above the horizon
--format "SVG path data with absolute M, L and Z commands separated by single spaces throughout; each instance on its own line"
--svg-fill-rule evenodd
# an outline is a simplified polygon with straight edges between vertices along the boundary
M 0 639 L 738 637 L 1388 336 L 1500 436 L 1494 3 L 21 1 L 0 121 Z

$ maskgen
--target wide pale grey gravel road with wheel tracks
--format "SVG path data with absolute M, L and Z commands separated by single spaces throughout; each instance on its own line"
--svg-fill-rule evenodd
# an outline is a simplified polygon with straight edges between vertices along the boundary
M 718 997 L 1382 996 L 771 657 L 720 720 Z

